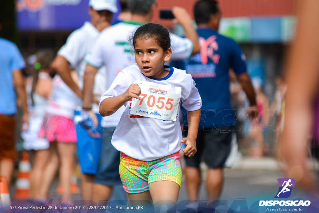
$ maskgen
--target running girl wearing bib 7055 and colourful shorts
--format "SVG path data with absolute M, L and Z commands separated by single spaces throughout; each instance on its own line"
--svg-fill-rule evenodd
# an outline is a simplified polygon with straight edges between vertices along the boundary
M 159 24 L 139 27 L 131 42 L 135 62 L 123 69 L 100 101 L 100 114 L 126 107 L 112 137 L 121 152 L 120 176 L 130 204 L 149 200 L 154 207 L 176 204 L 182 181 L 179 150 L 196 153 L 200 95 L 185 71 L 164 65 L 170 60 L 170 35 Z M 188 110 L 189 132 L 182 138 L 180 100 Z

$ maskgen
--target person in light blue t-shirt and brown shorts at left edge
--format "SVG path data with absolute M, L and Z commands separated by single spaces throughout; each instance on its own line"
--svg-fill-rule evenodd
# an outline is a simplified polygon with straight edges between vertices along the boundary
M 2 19 L 0 17 L 0 31 Z M 15 127 L 17 98 L 21 100 L 22 124 L 28 126 L 28 109 L 22 71 L 25 62 L 18 47 L 6 39 L 0 38 L 0 175 L 6 176 L 10 185 L 14 161 L 17 158 L 15 148 Z

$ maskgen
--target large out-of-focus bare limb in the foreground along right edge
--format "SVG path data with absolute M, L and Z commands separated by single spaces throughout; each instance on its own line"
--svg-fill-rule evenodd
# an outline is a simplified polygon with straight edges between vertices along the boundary
M 298 1 L 295 40 L 285 68 L 287 80 L 282 154 L 286 175 L 318 193 L 318 177 L 308 166 L 309 138 L 319 138 L 319 1 Z M 318 194 L 316 194 L 318 196 Z

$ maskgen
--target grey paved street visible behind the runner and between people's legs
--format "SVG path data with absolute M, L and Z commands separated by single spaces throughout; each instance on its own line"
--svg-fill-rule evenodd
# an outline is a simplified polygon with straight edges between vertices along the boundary
M 205 179 L 207 168 L 202 166 L 202 170 L 202 177 Z M 279 170 L 278 163 L 273 158 L 252 159 L 246 157 L 237 161 L 232 169 L 225 169 L 224 174 L 225 182 L 219 200 L 226 202 L 225 205 L 227 207 L 225 208 L 229 208 L 234 202 L 238 201 L 244 202 L 246 207 L 248 206 L 250 208 L 254 202 L 259 202 L 259 200 L 273 200 L 278 191 L 277 179 L 284 178 L 284 175 Z M 49 194 L 51 200 L 59 197 L 55 192 L 57 182 L 58 180 L 55 179 L 50 189 L 51 192 Z M 78 180 L 78 186 L 80 187 L 80 180 Z M 127 202 L 123 201 L 123 199 L 125 199 L 125 193 L 120 193 L 122 190 L 122 185 L 116 186 L 110 201 L 122 200 L 119 201 L 120 204 L 126 206 Z M 14 193 L 14 186 L 11 187 L 10 191 L 12 195 Z M 298 188 L 293 188 L 292 195 L 289 199 L 297 199 L 302 196 L 303 194 Z M 72 194 L 72 199 L 79 202 L 81 196 L 80 194 Z M 187 200 L 187 192 L 183 177 L 178 203 L 185 203 L 185 206 L 185 200 Z M 114 202 L 112 204 L 114 204 Z M 204 182 L 201 185 L 197 205 L 207 206 Z

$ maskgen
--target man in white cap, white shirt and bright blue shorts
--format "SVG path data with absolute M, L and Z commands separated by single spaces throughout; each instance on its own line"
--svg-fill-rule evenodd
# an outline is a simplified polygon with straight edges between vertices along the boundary
M 53 62 L 53 67 L 56 69 L 61 79 L 81 98 L 83 75 L 86 66 L 83 59 L 92 48 L 100 31 L 110 26 L 109 22 L 115 12 L 117 12 L 116 0 L 90 0 L 90 22 L 85 22 L 81 28 L 70 34 L 66 44 L 59 50 Z M 70 66 L 78 73 L 78 84 L 71 78 Z M 94 98 L 99 100 L 100 96 L 106 90 L 105 67 L 100 68 L 95 77 L 96 81 L 93 93 L 95 94 Z M 100 121 L 101 117 L 99 116 L 98 109 L 99 107 L 96 103 L 92 105 L 92 111 L 97 113 Z M 77 115 L 79 116 L 81 113 L 77 111 L 76 116 Z M 81 124 L 77 125 L 78 157 L 83 173 L 82 199 L 92 200 L 93 179 L 97 171 L 101 153 L 101 138 L 91 137 L 86 129 L 87 128 L 81 126 Z M 102 130 L 102 128 L 100 128 L 100 130 Z

